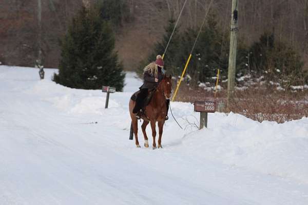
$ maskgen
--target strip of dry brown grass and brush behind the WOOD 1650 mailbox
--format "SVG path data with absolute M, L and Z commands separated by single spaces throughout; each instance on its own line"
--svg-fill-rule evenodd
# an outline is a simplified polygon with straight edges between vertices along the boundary
M 234 97 L 227 105 L 226 89 L 218 92 L 214 98 L 213 91 L 183 85 L 177 95 L 178 101 L 194 103 L 197 100 L 216 101 L 224 103 L 221 112 L 234 112 L 242 114 L 257 121 L 285 121 L 308 117 L 308 90 L 304 91 L 277 91 L 269 86 L 251 87 L 246 90 L 236 90 Z

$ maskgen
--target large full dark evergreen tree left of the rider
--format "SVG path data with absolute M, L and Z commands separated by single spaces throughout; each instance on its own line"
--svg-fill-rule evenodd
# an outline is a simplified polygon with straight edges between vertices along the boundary
M 113 52 L 113 32 L 97 10 L 80 10 L 61 48 L 59 74 L 54 75 L 56 83 L 80 89 L 100 89 L 103 85 L 123 89 L 125 74 Z

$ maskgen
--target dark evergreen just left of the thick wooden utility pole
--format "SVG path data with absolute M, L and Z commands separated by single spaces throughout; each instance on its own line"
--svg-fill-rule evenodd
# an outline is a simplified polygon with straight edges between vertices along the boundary
M 183 36 L 184 48 L 187 52 L 190 51 L 194 44 L 199 29 L 189 29 Z M 187 69 L 192 79 L 197 81 L 208 81 L 208 78 L 213 77 L 217 73 L 217 69 L 225 72 L 227 68 L 227 46 L 222 42 L 222 31 L 217 27 L 216 15 L 210 14 L 207 18 L 207 24 L 204 25 L 198 42 Z M 185 53 L 187 58 L 189 53 Z M 184 56 L 183 56 L 184 57 Z

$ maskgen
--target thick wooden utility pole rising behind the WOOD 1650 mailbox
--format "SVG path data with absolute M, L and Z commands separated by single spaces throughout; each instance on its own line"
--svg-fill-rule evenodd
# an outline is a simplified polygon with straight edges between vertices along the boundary
M 235 70 L 236 70 L 236 54 L 238 40 L 238 0 L 232 0 L 232 16 L 231 16 L 231 34 L 230 34 L 230 52 L 228 67 L 228 105 L 229 100 L 233 97 L 235 87 Z

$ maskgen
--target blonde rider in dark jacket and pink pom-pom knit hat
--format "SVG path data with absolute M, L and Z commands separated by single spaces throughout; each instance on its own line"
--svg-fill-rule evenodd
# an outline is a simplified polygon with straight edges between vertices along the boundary
M 136 105 L 132 110 L 132 113 L 137 113 L 136 118 L 140 119 L 144 113 L 144 100 L 148 95 L 148 90 L 158 86 L 160 81 L 164 78 L 164 61 L 161 55 L 156 56 L 156 61 L 150 63 L 144 68 L 143 79 L 144 83 L 140 87 L 140 93 L 137 95 Z M 169 119 L 169 99 L 166 100 L 167 112 L 165 120 Z

